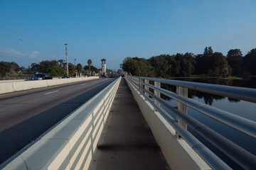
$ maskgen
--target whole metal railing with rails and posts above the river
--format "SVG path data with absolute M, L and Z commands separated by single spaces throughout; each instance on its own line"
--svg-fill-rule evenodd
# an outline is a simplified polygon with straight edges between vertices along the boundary
M 126 78 L 134 88 L 137 89 L 140 94 L 152 104 L 152 106 L 154 106 L 155 111 L 161 113 L 170 125 L 172 125 L 176 130 L 176 137 L 182 137 L 186 140 L 186 142 L 188 142 L 188 144 L 191 145 L 191 147 L 201 155 L 213 169 L 228 169 L 228 166 L 199 142 L 196 137 L 193 137 L 193 135 L 186 130 L 187 125 L 201 135 L 201 137 L 217 147 L 225 155 L 230 157 L 230 159 L 233 159 L 234 162 L 242 166 L 242 168 L 256 169 L 255 155 L 247 152 L 247 150 L 236 145 L 234 142 L 228 140 L 218 132 L 208 128 L 206 125 L 187 114 L 187 107 L 193 108 L 214 120 L 218 120 L 224 125 L 228 125 L 229 127 L 252 137 L 252 139 L 256 139 L 256 123 L 254 121 L 188 98 L 188 89 L 193 89 L 256 103 L 256 89 L 150 77 L 127 76 Z M 154 81 L 154 85 L 149 84 L 149 81 Z M 162 89 L 161 84 L 176 86 L 176 93 Z M 149 88 L 153 89 L 154 93 L 149 91 Z M 172 106 L 171 103 L 161 98 L 161 94 L 176 100 L 176 106 Z M 171 117 L 170 113 L 173 113 L 176 116 L 175 120 Z

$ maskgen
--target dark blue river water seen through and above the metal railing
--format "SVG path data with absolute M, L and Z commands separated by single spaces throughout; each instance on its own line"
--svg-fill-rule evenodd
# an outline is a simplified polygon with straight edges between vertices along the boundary
M 228 86 L 241 86 L 241 87 L 256 89 L 256 77 L 242 79 L 242 80 L 225 80 L 225 79 L 178 79 L 178 80 L 202 82 L 202 83 L 208 83 L 208 84 L 221 84 L 221 85 L 228 85 Z M 174 91 L 176 88 L 171 86 L 165 86 L 164 89 L 169 89 L 169 90 L 172 89 L 171 91 Z M 239 115 L 243 118 L 247 118 L 249 120 L 253 120 L 256 122 L 256 112 L 255 112 L 256 103 L 239 101 L 233 98 L 227 98 L 225 96 L 206 94 L 206 93 L 201 93 L 198 91 L 191 91 L 191 90 L 188 90 L 188 97 L 193 98 L 196 101 L 200 101 L 201 103 L 206 103 L 215 108 L 220 108 L 223 111 L 228 111 L 235 115 Z M 172 99 L 168 98 L 167 100 L 173 105 L 175 105 L 176 103 L 176 101 Z M 238 132 L 237 130 L 233 130 L 232 128 L 229 128 L 228 126 L 223 125 L 222 123 L 219 123 L 216 120 L 208 118 L 208 116 L 203 115 L 202 113 L 199 113 L 197 111 L 194 111 L 191 108 L 188 108 L 188 115 L 191 115 L 193 118 L 196 118 L 196 120 L 199 120 L 201 123 L 207 125 L 209 128 L 212 128 L 216 132 L 220 133 L 220 135 L 223 135 L 224 137 L 228 138 L 229 140 L 232 140 L 236 144 L 246 149 L 248 152 L 256 155 L 256 145 L 255 145 L 256 140 L 253 139 L 252 137 L 248 137 L 247 135 L 244 135 L 241 132 Z M 213 145 L 211 145 L 210 142 L 204 140 L 203 137 L 201 137 L 196 132 L 191 130 L 191 128 L 188 127 L 188 131 L 190 131 L 194 136 L 196 136 L 198 140 L 201 140 L 201 142 L 203 142 L 204 145 L 209 147 L 215 154 L 218 155 L 218 157 L 220 157 L 220 159 L 223 159 L 233 169 L 242 169 L 240 166 L 238 166 L 238 164 L 233 162 L 231 159 L 229 159 L 223 153 L 221 153 L 218 149 L 216 149 Z

